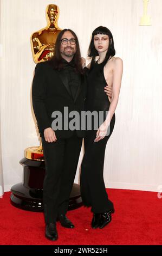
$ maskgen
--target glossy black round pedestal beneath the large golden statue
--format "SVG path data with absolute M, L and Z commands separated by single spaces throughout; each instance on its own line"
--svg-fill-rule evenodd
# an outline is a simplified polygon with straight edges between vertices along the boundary
M 23 210 L 43 212 L 45 163 L 26 157 L 20 163 L 23 166 L 23 182 L 11 187 L 11 204 Z M 82 206 L 80 186 L 74 184 L 68 210 L 77 209 L 80 206 Z

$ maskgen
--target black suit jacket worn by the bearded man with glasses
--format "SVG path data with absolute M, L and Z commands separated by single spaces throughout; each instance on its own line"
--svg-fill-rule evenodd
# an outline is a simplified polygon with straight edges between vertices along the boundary
M 43 136 L 44 129 L 51 127 L 55 118 L 51 117 L 54 111 L 60 111 L 64 120 L 64 107 L 68 107 L 68 112 L 84 110 L 86 97 L 86 77 L 80 75 L 78 90 L 73 99 L 68 85 L 68 78 L 64 70 L 55 70 L 50 61 L 38 63 L 35 68 L 35 75 L 32 87 L 33 109 L 37 120 L 38 130 Z M 72 120 L 73 118 L 71 118 Z M 70 121 L 70 119 L 69 119 Z M 84 137 L 85 131 L 76 130 L 78 137 Z M 55 130 L 56 138 L 69 138 L 73 131 Z

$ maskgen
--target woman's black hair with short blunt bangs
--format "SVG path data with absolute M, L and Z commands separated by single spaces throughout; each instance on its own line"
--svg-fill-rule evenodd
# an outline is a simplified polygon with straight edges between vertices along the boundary
M 95 49 L 95 46 L 94 46 L 94 36 L 98 35 L 98 34 L 108 35 L 108 38 L 109 38 L 109 46 L 108 46 L 108 50 L 107 50 L 105 59 L 103 60 L 103 63 L 106 64 L 109 57 L 115 55 L 114 40 L 113 40 L 113 35 L 112 35 L 111 31 L 109 31 L 108 28 L 102 27 L 102 26 L 95 28 L 92 33 L 92 39 L 90 41 L 90 45 L 89 45 L 89 49 L 88 49 L 88 57 L 92 57 L 91 64 L 90 64 L 90 70 L 93 68 L 96 56 L 99 56 L 99 53 Z

